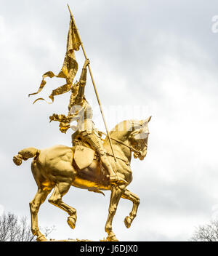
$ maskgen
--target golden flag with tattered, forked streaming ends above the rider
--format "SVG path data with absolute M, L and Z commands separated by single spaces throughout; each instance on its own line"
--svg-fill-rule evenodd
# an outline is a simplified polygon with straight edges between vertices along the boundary
M 76 26 L 73 23 L 72 17 L 70 17 L 70 28 L 68 31 L 67 50 L 65 53 L 65 59 L 62 64 L 61 71 L 57 75 L 55 75 L 55 73 L 53 73 L 52 71 L 48 71 L 48 72 L 44 73 L 44 75 L 42 76 L 42 81 L 41 81 L 38 91 L 29 94 L 29 96 L 36 95 L 39 92 L 41 92 L 41 90 L 44 88 L 45 84 L 47 83 L 44 79 L 46 77 L 52 78 L 54 76 L 65 79 L 66 84 L 64 84 L 61 87 L 58 87 L 57 89 L 54 89 L 52 91 L 52 94 L 49 95 L 49 98 L 52 100 L 52 102 L 54 101 L 54 96 L 62 95 L 63 93 L 68 92 L 71 89 L 73 79 L 76 76 L 76 73 L 78 71 L 78 63 L 76 62 L 76 57 L 75 57 L 74 51 L 78 51 L 80 45 L 81 45 L 81 41 L 79 39 L 78 32 L 76 30 Z M 39 98 L 37 100 L 44 100 L 44 99 Z M 33 102 L 33 104 L 36 103 L 37 100 L 35 100 Z

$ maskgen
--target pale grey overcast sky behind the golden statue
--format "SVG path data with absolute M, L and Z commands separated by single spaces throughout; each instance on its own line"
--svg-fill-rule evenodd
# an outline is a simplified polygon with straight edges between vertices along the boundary
M 26 215 L 37 187 L 31 160 L 17 167 L 22 148 L 70 146 L 70 131 L 49 124 L 52 113 L 67 113 L 69 93 L 48 105 L 32 105 L 46 71 L 58 73 L 65 56 L 70 16 L 67 1 L 0 0 L 0 211 Z M 146 119 L 150 137 L 144 161 L 132 160 L 128 189 L 140 197 L 128 230 L 132 203 L 121 199 L 113 231 L 121 241 L 187 241 L 195 226 L 218 216 L 218 33 L 212 18 L 217 1 L 68 0 L 84 42 L 108 128 L 124 119 Z M 218 26 L 217 26 L 218 28 Z M 76 52 L 79 71 L 82 52 Z M 64 79 L 47 79 L 40 97 Z M 104 130 L 92 82 L 86 98 L 94 123 Z M 63 201 L 77 209 L 76 229 L 68 215 L 45 201 L 39 225 L 56 226 L 53 239 L 98 241 L 108 216 L 105 197 L 70 188 Z

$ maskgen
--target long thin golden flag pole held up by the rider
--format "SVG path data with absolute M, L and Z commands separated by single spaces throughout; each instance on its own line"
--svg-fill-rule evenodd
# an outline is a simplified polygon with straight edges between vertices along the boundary
M 81 48 L 82 48 L 82 50 L 83 50 L 83 52 L 84 52 L 84 57 L 85 57 L 86 60 L 87 60 L 86 52 L 85 52 L 85 49 L 84 49 L 84 44 L 83 44 L 83 42 L 81 41 L 81 37 L 80 37 L 80 35 L 79 35 L 79 33 L 78 33 L 78 28 L 77 28 L 77 26 L 76 26 L 76 23 L 75 23 L 73 14 L 72 14 L 72 12 L 70 11 L 69 5 L 68 5 L 68 9 L 69 9 L 69 12 L 70 12 L 70 16 L 71 16 L 72 19 L 73 19 L 73 23 L 74 23 L 74 25 L 75 25 L 75 28 L 76 28 L 76 31 L 77 31 L 77 34 L 78 34 L 78 39 L 79 39 L 79 41 L 81 42 Z M 116 161 L 116 156 L 115 156 L 114 151 L 113 151 L 113 145 L 112 145 L 112 142 L 111 142 L 110 134 L 109 134 L 109 132 L 108 132 L 108 127 L 107 127 L 107 124 L 106 124 L 106 121 L 105 121 L 104 113 L 103 113 L 103 111 L 102 111 L 102 105 L 101 105 L 101 103 L 100 103 L 100 98 L 99 98 L 98 93 L 97 93 L 97 88 L 96 88 L 95 83 L 94 83 L 94 79 L 93 79 L 93 76 L 92 76 L 92 71 L 91 71 L 90 65 L 88 65 L 88 68 L 89 68 L 89 73 L 90 73 L 90 76 L 91 76 L 91 79 L 92 79 L 92 84 L 93 84 L 93 87 L 94 87 L 94 92 L 95 92 L 95 95 L 96 95 L 96 97 L 97 97 L 97 102 L 98 102 L 98 105 L 100 106 L 100 112 L 101 112 L 101 114 L 102 114 L 102 119 L 103 119 L 104 124 L 105 124 L 105 129 L 106 129 L 106 132 L 107 132 L 107 135 L 108 135 L 108 139 L 109 139 L 109 143 L 110 143 L 110 148 L 111 148 L 111 151 L 112 151 L 112 153 L 113 153 L 114 160 Z

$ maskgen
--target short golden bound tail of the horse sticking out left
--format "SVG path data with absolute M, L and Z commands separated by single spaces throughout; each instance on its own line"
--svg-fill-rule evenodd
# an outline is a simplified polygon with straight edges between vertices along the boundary
M 34 160 L 36 161 L 36 159 L 39 156 L 39 149 L 37 148 L 24 148 L 22 151 L 18 152 L 18 155 L 13 157 L 13 161 L 16 165 L 20 165 L 22 164 L 22 160 L 28 160 L 30 158 L 34 157 Z

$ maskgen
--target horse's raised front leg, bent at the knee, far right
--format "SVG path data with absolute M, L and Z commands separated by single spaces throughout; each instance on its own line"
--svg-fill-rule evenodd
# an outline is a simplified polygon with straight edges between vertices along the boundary
M 137 209 L 138 209 L 139 204 L 140 204 L 140 199 L 137 195 L 128 191 L 127 189 L 125 189 L 124 193 L 122 194 L 122 198 L 123 199 L 128 199 L 128 200 L 132 201 L 132 203 L 133 203 L 132 211 L 129 213 L 129 216 L 126 216 L 125 219 L 124 219 L 124 223 L 126 225 L 126 228 L 130 228 L 130 226 L 132 224 L 132 221 L 134 220 L 134 218 L 137 215 Z

